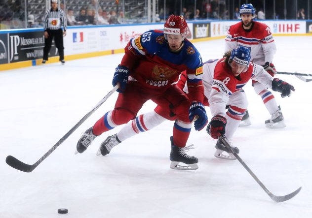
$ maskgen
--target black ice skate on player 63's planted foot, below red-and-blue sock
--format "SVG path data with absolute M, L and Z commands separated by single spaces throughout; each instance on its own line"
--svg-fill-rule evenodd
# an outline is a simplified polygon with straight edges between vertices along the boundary
M 173 136 L 170 137 L 171 141 L 171 152 L 170 152 L 170 168 L 175 170 L 196 170 L 198 169 L 197 163 L 198 159 L 194 156 L 189 156 L 184 152 L 189 151 L 193 145 L 190 145 L 185 148 L 180 148 L 173 144 Z M 180 163 L 184 163 L 185 165 L 180 165 Z

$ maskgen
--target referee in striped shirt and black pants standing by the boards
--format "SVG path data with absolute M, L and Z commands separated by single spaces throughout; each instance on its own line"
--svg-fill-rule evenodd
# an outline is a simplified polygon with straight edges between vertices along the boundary
M 62 26 L 64 31 L 62 30 Z M 53 37 L 55 46 L 58 49 L 58 53 L 60 55 L 60 62 L 62 62 L 62 64 L 65 63 L 63 36 L 66 35 L 66 27 L 67 21 L 64 11 L 57 7 L 57 0 L 51 0 L 51 9 L 45 11 L 43 18 L 45 40 L 42 63 L 45 63 L 48 60 Z

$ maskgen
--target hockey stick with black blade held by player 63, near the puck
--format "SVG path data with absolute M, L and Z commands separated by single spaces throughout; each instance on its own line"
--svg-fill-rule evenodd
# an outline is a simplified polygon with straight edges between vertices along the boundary
M 88 112 L 71 130 L 69 130 L 47 153 L 45 153 L 41 158 L 34 163 L 33 165 L 26 164 L 18 159 L 16 159 L 14 156 L 7 156 L 5 159 L 5 162 L 20 171 L 30 173 L 32 172 L 47 156 L 49 156 L 57 147 L 59 147 L 88 117 L 93 114 L 96 109 L 98 109 L 115 91 L 118 89 L 119 85 L 116 85 L 109 93 L 107 93 L 95 107 Z

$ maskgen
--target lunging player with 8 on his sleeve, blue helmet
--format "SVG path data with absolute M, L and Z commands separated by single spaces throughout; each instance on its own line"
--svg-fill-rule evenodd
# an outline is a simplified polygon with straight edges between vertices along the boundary
M 262 66 L 249 62 L 249 48 L 238 46 L 232 52 L 227 52 L 223 59 L 209 60 L 203 63 L 204 104 L 205 106 L 210 104 L 210 110 L 214 116 L 208 131 L 215 139 L 225 134 L 228 140 L 231 141 L 247 108 L 248 102 L 242 88 L 249 79 L 254 79 L 265 86 L 271 87 L 273 91 L 281 92 L 282 96 L 289 96 L 291 90 L 294 91 L 293 87 L 288 83 L 273 79 Z M 186 83 L 186 74 L 183 72 L 177 85 L 187 93 Z M 226 106 L 228 106 L 227 112 Z M 140 115 L 131 123 L 125 125 L 114 135 L 118 141 L 103 143 L 103 149 L 106 150 L 106 154 L 109 154 L 117 144 L 127 138 L 148 131 L 166 120 L 174 119 L 175 117 L 167 107 L 157 106 L 154 111 Z M 216 149 L 216 157 L 235 159 L 219 140 Z M 233 149 L 239 153 L 238 148 L 233 147 Z

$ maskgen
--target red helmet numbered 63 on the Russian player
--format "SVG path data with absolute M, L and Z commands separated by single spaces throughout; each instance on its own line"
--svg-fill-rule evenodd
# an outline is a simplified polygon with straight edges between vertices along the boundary
M 163 28 L 163 33 L 165 36 L 165 39 L 167 39 L 167 34 L 173 34 L 173 35 L 182 35 L 182 39 L 184 40 L 186 37 L 188 29 L 188 24 L 186 23 L 186 20 L 183 16 L 175 16 L 171 14 L 168 19 L 166 20 L 166 23 Z

